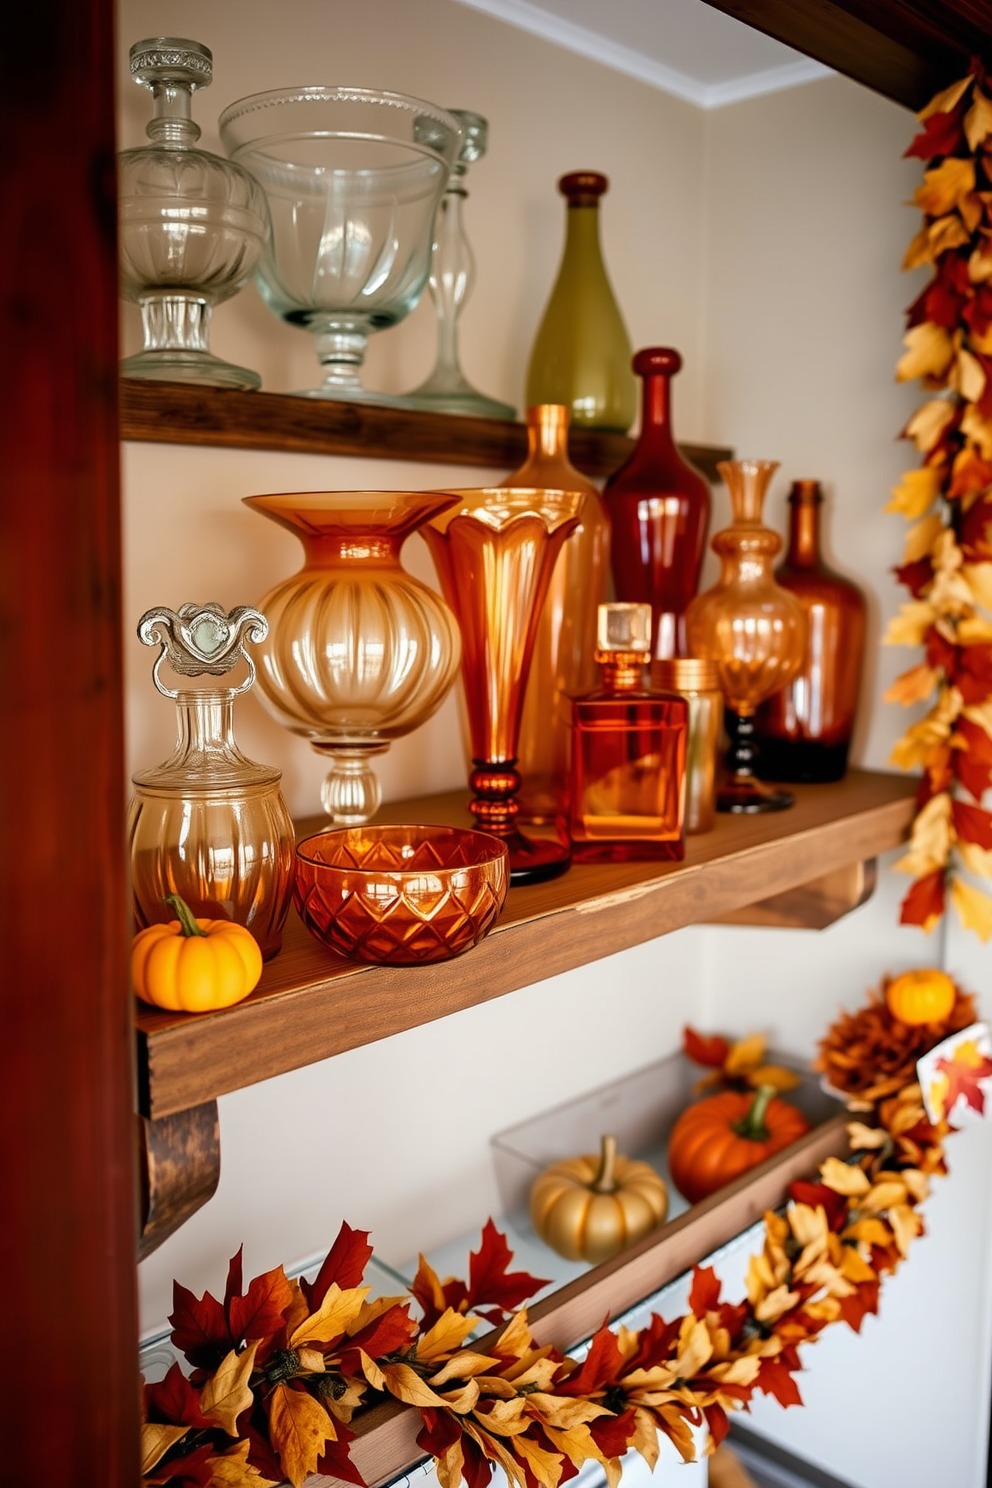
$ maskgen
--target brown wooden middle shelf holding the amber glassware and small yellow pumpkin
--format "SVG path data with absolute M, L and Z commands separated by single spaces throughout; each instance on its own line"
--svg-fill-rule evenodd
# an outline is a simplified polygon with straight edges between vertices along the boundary
M 466 801 L 464 790 L 430 796 L 387 808 L 381 818 L 470 824 Z M 489 936 L 437 966 L 345 961 L 290 912 L 283 951 L 247 1001 L 201 1016 L 141 1009 L 141 1110 L 159 1119 L 201 1106 L 683 926 L 767 903 L 808 885 L 811 875 L 831 879 L 897 847 L 913 809 L 915 781 L 904 775 L 851 771 L 836 786 L 797 786 L 791 811 L 720 817 L 712 832 L 689 838 L 684 863 L 576 865 L 549 884 L 512 888 Z

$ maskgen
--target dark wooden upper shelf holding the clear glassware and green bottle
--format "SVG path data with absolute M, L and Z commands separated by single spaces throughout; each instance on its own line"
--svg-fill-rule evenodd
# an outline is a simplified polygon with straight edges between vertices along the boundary
M 503 418 L 424 414 L 375 403 L 233 393 L 186 382 L 120 382 L 120 437 L 164 445 L 222 445 L 308 455 L 375 455 L 512 470 L 526 454 L 526 429 Z M 680 445 L 709 481 L 732 449 Z M 626 434 L 573 429 L 568 454 L 586 475 L 613 475 L 634 449 Z

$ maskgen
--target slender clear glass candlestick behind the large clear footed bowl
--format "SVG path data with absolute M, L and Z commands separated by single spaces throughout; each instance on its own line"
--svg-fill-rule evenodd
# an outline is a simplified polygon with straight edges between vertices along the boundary
M 428 286 L 437 314 L 437 359 L 434 371 L 418 388 L 403 397 L 410 408 L 439 414 L 476 414 L 482 418 L 513 418 L 516 409 L 497 397 L 477 393 L 458 360 L 458 317 L 476 277 L 476 260 L 463 222 L 463 202 L 468 195 L 468 167 L 486 153 L 489 125 L 480 113 L 449 109 L 461 124 L 461 150 L 455 161 L 434 220 L 434 247 Z

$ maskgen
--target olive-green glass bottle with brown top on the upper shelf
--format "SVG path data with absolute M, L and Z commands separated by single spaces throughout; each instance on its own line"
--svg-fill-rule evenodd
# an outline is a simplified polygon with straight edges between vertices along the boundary
M 526 403 L 567 403 L 573 424 L 626 433 L 637 384 L 599 248 L 599 198 L 608 187 L 598 171 L 571 171 L 558 182 L 568 201 L 565 250 L 531 351 Z

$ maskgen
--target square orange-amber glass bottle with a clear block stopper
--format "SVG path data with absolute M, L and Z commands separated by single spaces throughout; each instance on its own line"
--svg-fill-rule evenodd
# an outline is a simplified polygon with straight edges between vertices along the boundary
M 689 704 L 644 684 L 647 604 L 601 604 L 602 684 L 571 699 L 570 833 L 577 863 L 686 856 Z

